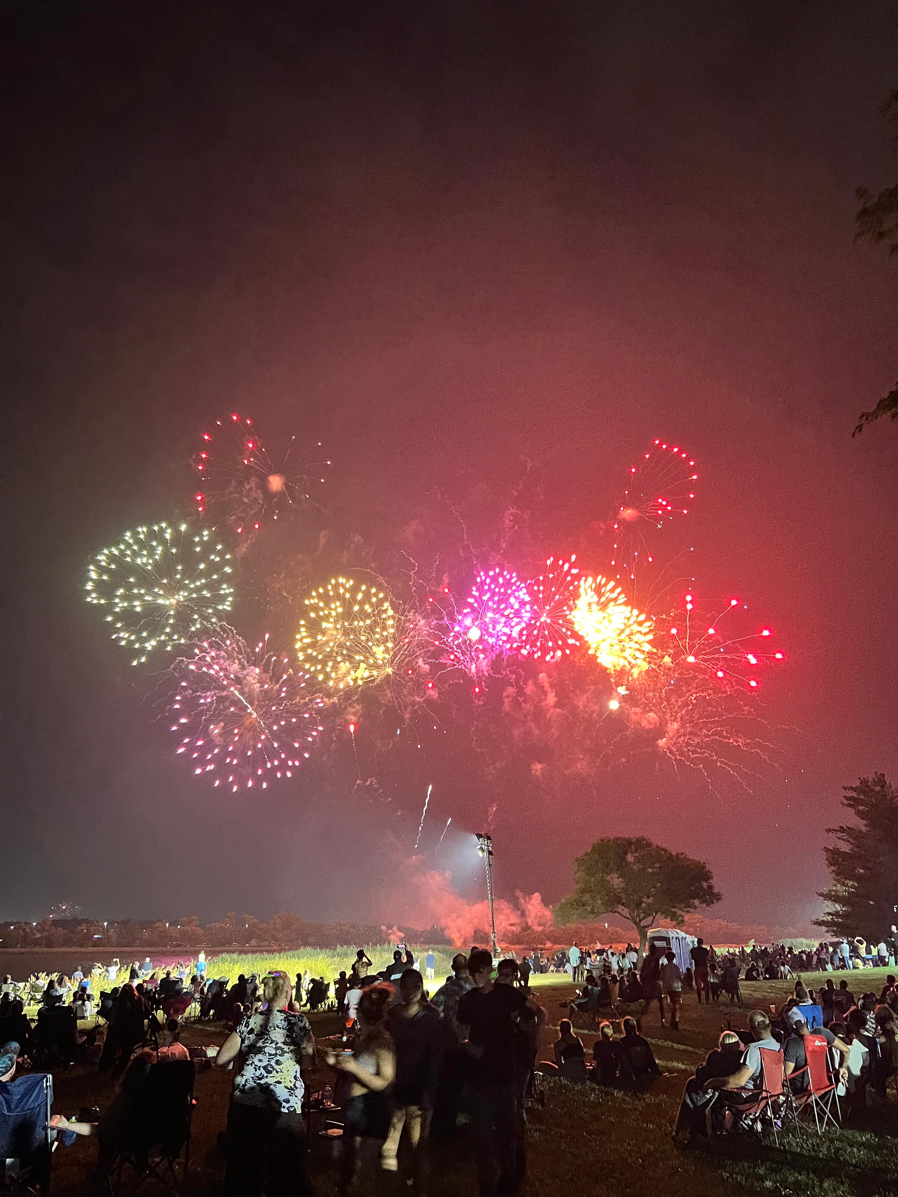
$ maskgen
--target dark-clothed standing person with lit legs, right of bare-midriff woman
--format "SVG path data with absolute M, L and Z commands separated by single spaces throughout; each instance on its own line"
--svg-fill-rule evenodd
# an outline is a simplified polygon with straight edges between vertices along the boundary
M 439 1075 L 443 1034 L 439 1015 L 424 996 L 424 982 L 415 968 L 407 968 L 399 983 L 400 1002 L 389 1011 L 387 1029 L 396 1046 L 396 1078 L 393 1083 L 393 1117 L 381 1165 L 399 1171 L 396 1155 L 402 1129 L 412 1148 L 412 1180 L 415 1193 L 424 1193 L 429 1181 L 427 1136 L 433 1112 L 433 1095 Z

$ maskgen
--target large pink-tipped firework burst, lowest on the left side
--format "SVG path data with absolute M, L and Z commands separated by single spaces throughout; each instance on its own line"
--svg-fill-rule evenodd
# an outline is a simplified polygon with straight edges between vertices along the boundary
M 175 664 L 180 678 L 169 713 L 182 736 L 176 752 L 196 776 L 232 791 L 292 777 L 322 730 L 321 699 L 286 657 L 251 652 L 239 636 L 212 638 Z

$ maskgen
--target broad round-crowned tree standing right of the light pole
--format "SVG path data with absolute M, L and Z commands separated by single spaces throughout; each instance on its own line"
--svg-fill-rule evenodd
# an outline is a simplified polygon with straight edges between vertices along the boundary
M 681 923 L 721 900 L 703 861 L 672 852 L 642 836 L 599 839 L 574 862 L 577 888 L 554 907 L 556 922 L 620 915 L 639 932 L 639 956 L 659 918 Z

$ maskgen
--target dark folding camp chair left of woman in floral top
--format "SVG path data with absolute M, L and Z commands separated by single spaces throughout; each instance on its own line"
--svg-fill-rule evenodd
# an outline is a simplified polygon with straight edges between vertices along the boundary
M 109 1167 L 113 1197 L 122 1192 L 126 1168 L 138 1175 L 132 1193 L 151 1177 L 181 1192 L 190 1161 L 195 1071 L 189 1059 L 164 1061 L 148 1069 Z

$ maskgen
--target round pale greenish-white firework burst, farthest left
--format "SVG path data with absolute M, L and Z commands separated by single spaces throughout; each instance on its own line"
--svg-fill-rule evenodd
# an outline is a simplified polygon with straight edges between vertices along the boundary
M 113 639 L 135 651 L 169 652 L 214 628 L 231 609 L 231 558 L 212 533 L 166 523 L 126 531 L 87 569 L 86 601 L 107 608 Z

